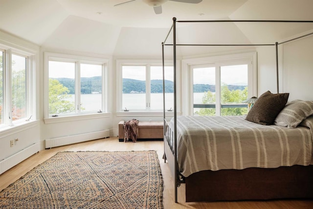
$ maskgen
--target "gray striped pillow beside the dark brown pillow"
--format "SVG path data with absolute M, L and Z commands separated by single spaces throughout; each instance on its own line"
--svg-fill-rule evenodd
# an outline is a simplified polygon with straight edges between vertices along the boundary
M 311 115 L 313 115 L 313 101 L 294 100 L 286 104 L 275 118 L 274 124 L 295 128 L 302 120 Z

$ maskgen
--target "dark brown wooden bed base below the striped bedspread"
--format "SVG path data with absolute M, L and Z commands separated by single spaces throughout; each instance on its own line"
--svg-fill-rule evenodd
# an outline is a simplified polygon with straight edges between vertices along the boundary
M 313 165 L 207 170 L 185 183 L 186 202 L 313 198 Z

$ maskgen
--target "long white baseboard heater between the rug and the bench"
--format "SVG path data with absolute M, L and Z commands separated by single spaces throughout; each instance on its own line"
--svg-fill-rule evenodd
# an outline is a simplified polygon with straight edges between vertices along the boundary
M 52 148 L 73 144 L 94 139 L 103 139 L 110 137 L 110 130 L 91 132 L 86 134 L 71 135 L 66 137 L 59 137 L 54 139 L 45 139 L 45 148 Z

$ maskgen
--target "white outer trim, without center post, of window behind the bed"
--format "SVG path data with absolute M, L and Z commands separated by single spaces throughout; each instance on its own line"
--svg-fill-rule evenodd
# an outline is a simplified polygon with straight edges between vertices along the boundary
M 237 61 L 251 61 L 252 71 L 248 71 L 248 83 L 252 82 L 252 91 L 248 92 L 248 97 L 257 96 L 257 52 L 248 52 L 231 55 L 201 57 L 193 59 L 182 60 L 182 115 L 188 116 L 193 113 L 193 94 L 190 90 L 190 83 L 192 83 L 192 77 L 190 77 L 190 66 L 213 64 L 216 67 L 231 64 Z M 217 63 L 217 65 L 216 65 Z M 252 72 L 252 73 L 251 73 Z M 218 83 L 216 83 L 217 85 Z

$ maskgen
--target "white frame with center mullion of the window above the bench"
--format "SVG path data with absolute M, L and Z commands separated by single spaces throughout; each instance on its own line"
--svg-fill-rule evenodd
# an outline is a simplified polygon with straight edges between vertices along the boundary
M 123 77 L 122 77 L 122 67 L 123 66 L 160 66 L 162 67 L 162 60 L 128 60 L 128 59 L 117 59 L 116 60 L 116 105 L 115 105 L 115 112 L 117 116 L 163 116 L 163 109 L 162 110 L 151 110 L 149 107 L 145 110 L 133 110 L 133 111 L 124 111 L 122 107 L 122 85 L 123 85 Z M 172 60 L 164 60 L 164 66 L 173 66 Z M 177 64 L 177 69 L 179 67 L 179 61 Z M 149 71 L 149 70 L 148 70 Z M 146 73 L 146 79 L 149 78 L 149 81 L 146 80 L 146 93 L 150 90 L 151 80 L 150 80 L 150 71 L 148 74 Z M 177 70 L 176 77 L 180 77 L 179 70 Z M 180 86 L 179 79 L 177 79 L 177 85 Z M 148 87 L 148 88 L 147 88 Z M 150 91 L 149 91 L 150 92 Z M 177 94 L 179 94 L 179 89 L 177 90 Z M 147 99 L 149 100 L 151 95 L 146 95 L 146 102 Z M 150 99 L 151 100 L 151 99 Z M 177 102 L 177 111 L 180 111 L 179 101 Z M 172 112 L 171 112 L 172 114 Z

